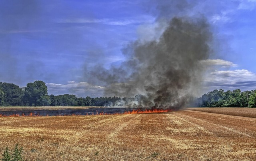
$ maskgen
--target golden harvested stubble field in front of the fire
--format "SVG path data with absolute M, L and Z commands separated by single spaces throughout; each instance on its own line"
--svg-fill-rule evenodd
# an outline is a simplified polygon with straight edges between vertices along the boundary
M 27 160 L 256 160 L 256 119 L 167 113 L 0 117 L 0 152 Z

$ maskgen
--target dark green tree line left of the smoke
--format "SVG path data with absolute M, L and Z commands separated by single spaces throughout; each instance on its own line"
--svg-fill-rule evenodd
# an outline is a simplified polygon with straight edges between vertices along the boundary
M 34 81 L 26 87 L 0 82 L 0 106 L 104 106 L 120 97 L 76 97 L 76 95 L 48 95 L 46 83 Z

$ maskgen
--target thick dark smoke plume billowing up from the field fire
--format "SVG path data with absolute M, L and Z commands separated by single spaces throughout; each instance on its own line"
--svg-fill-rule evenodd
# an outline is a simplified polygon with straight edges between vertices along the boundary
M 159 40 L 130 44 L 120 68 L 91 74 L 106 83 L 106 96 L 136 96 L 114 105 L 178 109 L 200 90 L 211 40 L 204 18 L 172 18 Z

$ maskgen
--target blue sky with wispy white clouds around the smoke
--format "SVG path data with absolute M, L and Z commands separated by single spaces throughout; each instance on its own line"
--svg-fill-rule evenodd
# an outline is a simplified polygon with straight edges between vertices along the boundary
M 0 81 L 42 80 L 48 94 L 102 96 L 88 69 L 120 64 L 130 42 L 159 38 L 174 16 L 210 24 L 204 92 L 256 89 L 256 0 L 1 0 Z

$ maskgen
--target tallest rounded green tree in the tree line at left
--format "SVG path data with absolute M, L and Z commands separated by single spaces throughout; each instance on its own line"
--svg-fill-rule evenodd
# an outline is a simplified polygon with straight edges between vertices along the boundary
M 40 104 L 40 99 L 42 96 L 47 96 L 47 86 L 43 81 L 34 81 L 34 83 L 28 83 L 25 87 L 25 97 L 27 98 L 28 105 L 36 106 L 38 103 Z M 44 97 L 45 98 L 45 97 Z M 38 100 L 40 99 L 40 100 Z

